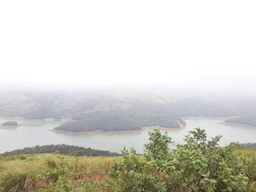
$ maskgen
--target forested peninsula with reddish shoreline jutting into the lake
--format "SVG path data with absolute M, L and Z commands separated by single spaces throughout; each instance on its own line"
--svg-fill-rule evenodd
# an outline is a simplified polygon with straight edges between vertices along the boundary
M 84 120 L 67 122 L 56 127 L 61 131 L 133 131 L 145 126 L 179 128 L 185 124 L 180 118 L 165 115 L 129 114 L 129 112 L 94 112 Z

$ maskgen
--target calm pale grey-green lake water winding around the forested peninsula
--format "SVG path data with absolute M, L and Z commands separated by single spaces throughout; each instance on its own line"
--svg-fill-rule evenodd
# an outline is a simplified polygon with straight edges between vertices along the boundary
M 23 120 L 18 118 L 2 118 L 0 124 L 15 120 L 20 125 L 17 128 L 0 128 L 0 153 L 5 151 L 32 147 L 35 145 L 67 144 L 91 147 L 99 150 L 120 152 L 121 148 L 135 147 L 138 153 L 143 152 L 143 144 L 148 141 L 147 132 L 129 134 L 61 134 L 50 131 L 63 121 Z M 206 129 L 208 137 L 222 135 L 221 145 L 230 142 L 256 142 L 256 128 L 249 126 L 227 126 L 219 124 L 225 118 L 184 118 L 187 127 L 181 130 L 168 130 L 167 134 L 174 142 L 181 143 L 184 135 L 195 127 Z

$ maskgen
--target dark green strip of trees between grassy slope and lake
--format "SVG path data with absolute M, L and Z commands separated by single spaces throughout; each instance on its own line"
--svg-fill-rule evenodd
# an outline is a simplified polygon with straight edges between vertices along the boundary
M 118 153 L 110 153 L 106 150 L 93 150 L 91 148 L 78 147 L 74 145 L 43 145 L 35 147 L 26 147 L 21 150 L 12 150 L 0 154 L 1 156 L 20 155 L 20 154 L 38 154 L 38 153 L 58 153 L 64 155 L 80 156 L 118 156 Z

